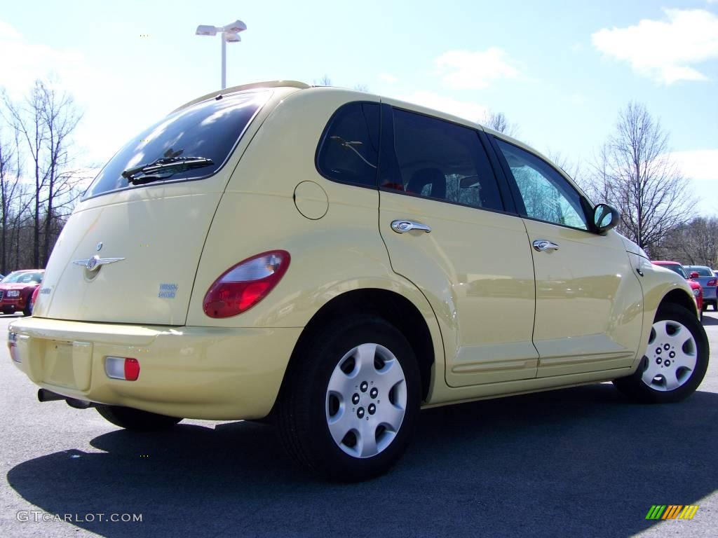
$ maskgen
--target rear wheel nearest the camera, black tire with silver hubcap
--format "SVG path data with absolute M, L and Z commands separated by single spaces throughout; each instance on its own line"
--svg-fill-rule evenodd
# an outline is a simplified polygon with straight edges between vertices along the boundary
M 355 362 L 354 369 L 349 374 L 358 372 L 355 374 L 357 379 L 344 372 L 350 383 L 357 383 L 355 387 L 347 385 L 347 390 L 354 392 L 353 395 L 344 398 L 338 393 L 330 392 L 330 382 L 337 379 L 332 375 L 340 376 L 337 372 L 340 364 L 347 369 L 352 367 L 351 362 L 354 359 L 349 352 L 359 349 L 362 344 L 368 344 L 364 349 L 376 350 L 371 351 L 374 359 L 372 368 L 367 367 L 362 371 L 359 369 L 360 363 Z M 373 344 L 378 346 L 372 348 Z M 389 357 L 389 362 L 383 362 L 382 357 Z M 376 387 L 383 384 L 378 377 L 381 375 L 379 370 L 385 371 L 389 364 L 396 367 L 392 357 L 400 366 L 393 374 L 403 374 L 403 381 L 394 384 L 391 390 L 385 391 L 382 388 L 381 392 L 375 392 Z M 362 372 L 365 372 L 366 376 Z M 297 463 L 332 481 L 356 482 L 385 473 L 401 458 L 419 418 L 421 379 L 411 345 L 404 335 L 386 320 L 378 316 L 359 316 L 338 319 L 327 324 L 309 336 L 302 347 L 295 351 L 292 365 L 286 375 L 276 409 L 276 421 L 281 440 Z M 360 377 L 376 379 L 376 385 L 364 387 L 365 383 Z M 371 383 L 374 384 L 373 381 Z M 394 401 L 398 392 L 394 392 L 392 397 L 392 391 L 396 390 L 400 391 L 401 398 L 406 400 L 404 415 L 401 420 L 395 420 L 398 422 L 397 428 L 387 428 L 380 423 L 383 417 L 387 416 L 386 412 L 396 412 L 396 409 L 401 407 L 401 404 L 396 407 Z M 387 394 L 381 402 L 383 392 Z M 351 401 L 354 397 L 360 397 L 358 404 Z M 372 400 L 373 398 L 376 400 Z M 345 402 L 345 405 L 339 405 L 340 401 Z M 374 412 L 371 412 L 372 417 L 369 417 L 373 402 L 377 402 L 377 405 L 374 406 Z M 394 406 L 393 409 L 389 408 L 389 405 Z M 359 414 L 360 409 L 364 409 L 363 406 L 366 406 L 365 411 Z M 335 410 L 332 411 L 331 407 L 335 407 Z M 330 415 L 332 412 L 338 415 L 340 410 L 342 413 L 346 412 L 346 420 L 352 425 L 358 425 L 363 433 L 353 429 L 341 441 L 335 441 L 330 432 Z M 350 455 L 346 450 L 363 450 L 363 441 L 360 439 L 368 430 L 372 433 L 366 433 L 365 439 L 369 440 L 371 437 L 373 441 L 368 441 L 367 446 L 376 443 L 378 448 L 383 443 L 388 444 L 372 456 Z M 351 446 L 352 441 L 354 447 Z

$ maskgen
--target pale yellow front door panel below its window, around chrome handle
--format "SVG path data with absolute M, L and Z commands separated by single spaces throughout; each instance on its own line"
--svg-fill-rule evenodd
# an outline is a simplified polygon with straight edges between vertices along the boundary
M 630 366 L 640 347 L 643 293 L 623 241 L 526 220 L 529 240 L 558 250 L 536 252 L 538 377 Z

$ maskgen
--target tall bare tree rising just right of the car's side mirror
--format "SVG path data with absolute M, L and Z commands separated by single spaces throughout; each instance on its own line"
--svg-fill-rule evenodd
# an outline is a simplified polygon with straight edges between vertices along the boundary
M 645 250 L 689 220 L 688 182 L 668 156 L 668 133 L 645 105 L 620 111 L 594 171 L 595 188 L 621 212 L 618 230 Z

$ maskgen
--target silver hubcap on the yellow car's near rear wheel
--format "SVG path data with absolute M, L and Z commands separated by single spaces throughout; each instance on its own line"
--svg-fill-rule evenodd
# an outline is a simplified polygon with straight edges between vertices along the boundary
M 394 354 L 361 344 L 338 362 L 329 379 L 327 426 L 332 439 L 355 458 L 371 458 L 396 437 L 406 412 L 406 379 Z

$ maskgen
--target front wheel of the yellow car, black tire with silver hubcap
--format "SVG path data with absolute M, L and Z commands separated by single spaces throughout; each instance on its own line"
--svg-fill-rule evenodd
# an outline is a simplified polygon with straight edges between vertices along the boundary
M 662 321 L 671 323 L 661 324 Z M 661 333 L 664 332 L 661 329 L 663 326 L 666 327 L 665 337 L 661 336 Z M 689 334 L 684 334 L 684 329 L 687 329 Z M 670 331 L 673 331 L 673 334 L 669 334 Z M 676 340 L 673 340 L 673 336 L 676 337 Z M 671 346 L 671 342 L 680 343 L 681 341 L 684 341 L 684 344 L 679 353 L 674 346 Z M 665 348 L 666 345 L 669 346 L 668 349 Z M 676 356 L 678 358 L 675 358 Z M 708 356 L 709 346 L 706 331 L 695 314 L 682 306 L 666 304 L 661 306 L 656 313 L 648 346 L 638 369 L 628 377 L 614 379 L 613 384 L 620 392 L 636 402 L 680 402 L 693 394 L 703 381 L 708 368 Z M 683 359 L 684 357 L 685 359 Z M 691 362 L 692 359 L 695 361 L 694 367 L 681 366 L 682 360 Z M 666 366 L 666 363 L 671 361 L 675 364 Z M 651 372 L 648 372 L 649 367 Z M 644 373 L 649 377 L 654 372 L 656 376 L 651 378 L 649 385 L 643 379 Z M 680 384 L 676 388 L 669 389 L 667 379 L 672 378 L 673 374 Z

